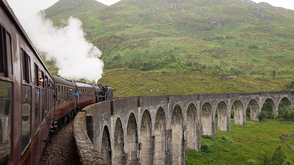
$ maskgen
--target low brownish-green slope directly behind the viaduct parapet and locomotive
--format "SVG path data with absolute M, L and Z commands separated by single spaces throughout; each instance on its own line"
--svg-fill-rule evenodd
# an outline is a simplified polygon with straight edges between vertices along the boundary
M 174 64 L 174 63 L 173 63 Z M 178 63 L 174 64 L 178 65 Z M 171 65 L 173 67 L 173 65 Z M 287 80 L 252 78 L 212 70 L 169 68 L 153 71 L 134 69 L 105 70 L 98 84 L 109 85 L 113 95 L 172 95 L 191 93 L 280 91 Z M 228 85 L 226 85 L 228 83 Z

